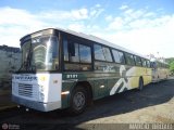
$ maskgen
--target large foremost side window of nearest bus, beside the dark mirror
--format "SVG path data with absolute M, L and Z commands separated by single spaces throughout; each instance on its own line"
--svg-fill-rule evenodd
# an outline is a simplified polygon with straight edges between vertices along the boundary
M 65 70 L 91 70 L 90 46 L 64 40 L 63 52 Z

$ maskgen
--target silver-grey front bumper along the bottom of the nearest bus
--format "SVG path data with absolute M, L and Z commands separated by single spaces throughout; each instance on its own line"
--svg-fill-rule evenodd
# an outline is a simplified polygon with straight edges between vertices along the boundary
M 26 99 L 21 99 L 15 95 L 12 95 L 12 101 L 20 104 L 20 105 L 24 105 L 28 108 L 33 108 L 33 109 L 37 109 L 37 110 L 41 110 L 41 112 L 50 112 L 50 110 L 61 108 L 61 101 L 42 103 L 42 102 L 36 102 L 36 101 L 26 100 Z

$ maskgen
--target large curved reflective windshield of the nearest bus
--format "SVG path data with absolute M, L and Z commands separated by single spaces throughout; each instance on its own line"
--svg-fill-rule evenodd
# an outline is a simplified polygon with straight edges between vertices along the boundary
M 57 70 L 58 68 L 59 41 L 57 37 L 38 37 L 23 43 L 20 70 Z

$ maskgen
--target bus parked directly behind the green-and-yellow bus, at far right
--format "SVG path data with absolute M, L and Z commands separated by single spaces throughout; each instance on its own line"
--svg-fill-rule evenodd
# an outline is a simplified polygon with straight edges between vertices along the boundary
M 152 82 L 159 82 L 169 78 L 170 66 L 166 62 L 152 58 L 150 60 L 152 67 Z

